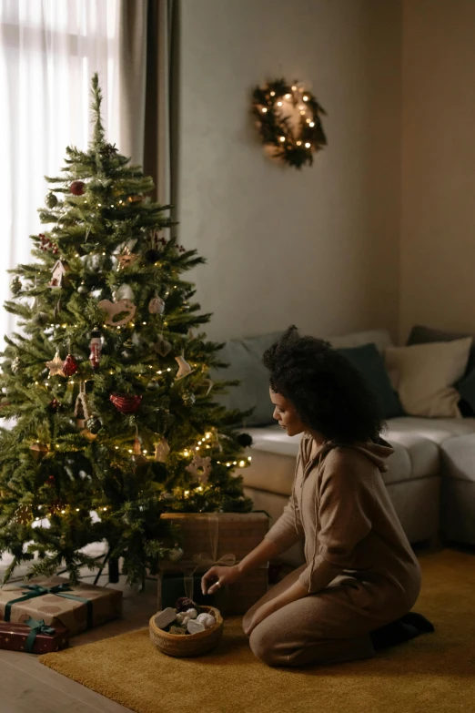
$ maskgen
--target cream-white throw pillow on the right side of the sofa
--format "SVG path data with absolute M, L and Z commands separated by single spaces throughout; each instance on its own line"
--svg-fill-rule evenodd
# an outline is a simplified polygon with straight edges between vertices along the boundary
M 386 369 L 402 408 L 411 416 L 461 418 L 453 388 L 467 368 L 472 338 L 388 347 Z

